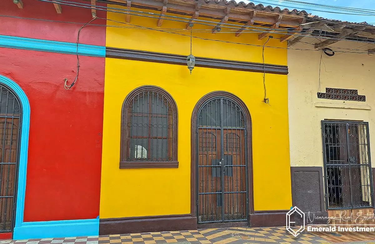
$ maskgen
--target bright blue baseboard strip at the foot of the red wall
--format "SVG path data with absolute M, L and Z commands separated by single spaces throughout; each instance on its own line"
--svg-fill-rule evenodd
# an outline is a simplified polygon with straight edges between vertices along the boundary
M 99 235 L 99 219 L 24 222 L 14 228 L 13 239 Z

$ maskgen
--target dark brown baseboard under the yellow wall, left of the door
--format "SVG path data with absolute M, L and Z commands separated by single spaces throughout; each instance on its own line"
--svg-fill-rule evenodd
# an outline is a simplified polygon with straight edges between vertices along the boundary
M 196 223 L 191 214 L 105 218 L 99 220 L 99 235 L 196 230 Z

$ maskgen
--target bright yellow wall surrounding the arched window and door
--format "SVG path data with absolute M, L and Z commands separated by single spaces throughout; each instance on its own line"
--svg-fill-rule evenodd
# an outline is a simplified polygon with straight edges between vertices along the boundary
M 124 20 L 123 15 L 110 12 L 108 18 Z M 132 16 L 131 24 L 156 28 L 155 19 L 144 17 Z M 165 20 L 162 28 L 181 29 L 185 25 Z M 240 38 L 235 38 L 234 33 L 200 35 L 256 45 L 266 41 L 258 41 L 257 34 Z M 285 47 L 277 39 L 271 39 L 267 45 Z M 153 30 L 107 27 L 107 47 L 187 55 L 190 38 Z M 193 39 L 195 56 L 262 62 L 261 51 L 261 47 Z M 266 48 L 265 60 L 286 65 L 286 51 Z M 178 169 L 118 168 L 121 106 L 126 95 L 142 85 L 162 87 L 177 103 Z M 196 67 L 190 75 L 183 65 L 106 58 L 100 217 L 190 213 L 191 114 L 196 102 L 215 90 L 239 96 L 251 113 L 255 210 L 289 209 L 287 75 L 266 74 L 266 85 L 270 105 L 263 102 L 263 73 Z

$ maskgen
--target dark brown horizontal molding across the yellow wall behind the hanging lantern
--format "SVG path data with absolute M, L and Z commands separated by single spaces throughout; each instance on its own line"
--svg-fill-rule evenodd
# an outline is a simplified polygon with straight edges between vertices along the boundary
M 186 56 L 168 53 L 155 53 L 149 51 L 139 51 L 131 49 L 106 47 L 105 57 L 115 59 L 130 59 L 146 62 L 169 63 L 175 65 L 186 65 Z M 273 65 L 266 63 L 242 62 L 224 59 L 210 59 L 206 57 L 196 57 L 195 67 L 230 69 L 239 71 L 264 72 L 270 74 L 288 74 L 288 66 Z

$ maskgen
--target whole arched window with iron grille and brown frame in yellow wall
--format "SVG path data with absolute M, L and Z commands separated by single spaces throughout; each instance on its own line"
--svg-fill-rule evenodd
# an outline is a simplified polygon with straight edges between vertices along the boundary
M 174 99 L 157 86 L 136 88 L 121 112 L 120 169 L 177 167 Z

